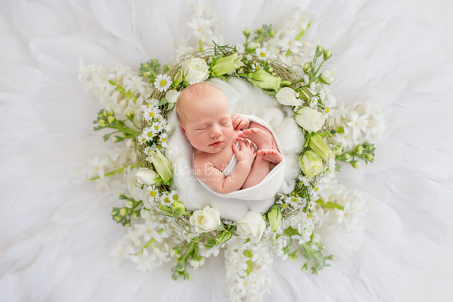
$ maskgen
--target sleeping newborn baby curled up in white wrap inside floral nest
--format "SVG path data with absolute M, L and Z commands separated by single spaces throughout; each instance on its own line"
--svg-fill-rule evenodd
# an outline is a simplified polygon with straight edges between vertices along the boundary
M 209 188 L 230 193 L 258 184 L 283 159 L 272 133 L 243 115 L 230 115 L 223 92 L 195 83 L 178 96 L 176 111 L 194 147 L 193 170 Z

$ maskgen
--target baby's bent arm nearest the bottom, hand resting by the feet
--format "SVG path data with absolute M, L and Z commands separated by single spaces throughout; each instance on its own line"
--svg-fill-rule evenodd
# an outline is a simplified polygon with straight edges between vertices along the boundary
M 233 173 L 225 177 L 223 173 L 214 167 L 212 162 L 203 158 L 203 155 L 194 158 L 193 169 L 195 174 L 208 187 L 219 193 L 230 193 L 241 189 L 252 168 L 256 152 L 255 146 L 250 145 L 248 141 L 239 139 L 241 150 L 236 145 L 232 145 L 233 152 L 238 158 L 238 164 Z

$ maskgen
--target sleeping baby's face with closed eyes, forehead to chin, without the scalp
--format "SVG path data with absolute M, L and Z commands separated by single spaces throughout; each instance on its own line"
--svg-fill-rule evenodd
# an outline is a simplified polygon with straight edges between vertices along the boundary
M 197 150 L 217 153 L 226 146 L 234 134 L 228 100 L 221 91 L 203 100 L 193 102 L 186 110 L 187 120 L 181 128 L 186 139 Z

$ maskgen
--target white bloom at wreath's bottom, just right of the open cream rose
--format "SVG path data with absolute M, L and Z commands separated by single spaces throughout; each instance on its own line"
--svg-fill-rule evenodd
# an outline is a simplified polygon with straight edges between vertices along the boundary
M 257 243 L 263 237 L 264 229 L 266 229 L 266 222 L 261 214 L 249 211 L 238 221 L 236 232 L 242 239 L 250 238 L 250 242 Z

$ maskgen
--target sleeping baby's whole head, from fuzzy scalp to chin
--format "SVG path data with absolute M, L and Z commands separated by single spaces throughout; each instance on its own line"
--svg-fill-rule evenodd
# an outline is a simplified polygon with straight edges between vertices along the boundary
M 217 153 L 230 145 L 234 134 L 223 92 L 208 83 L 195 83 L 178 96 L 176 112 L 186 140 L 197 150 Z

